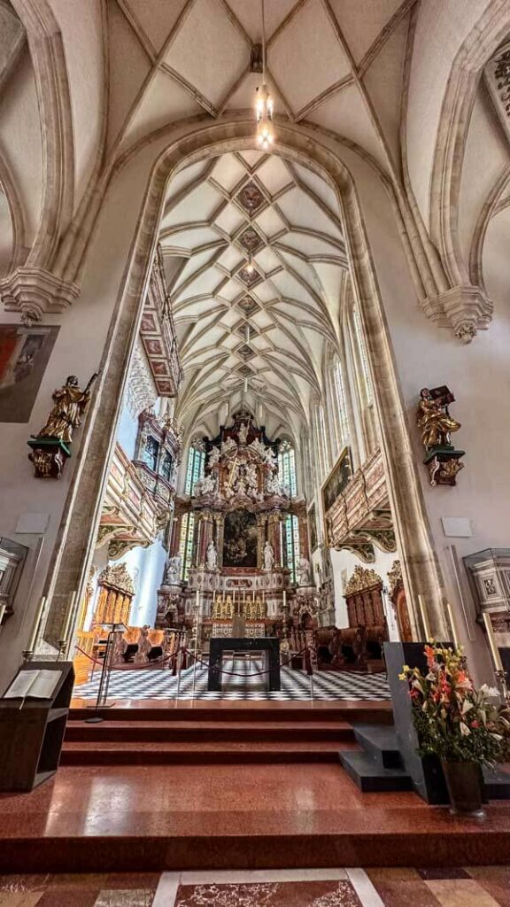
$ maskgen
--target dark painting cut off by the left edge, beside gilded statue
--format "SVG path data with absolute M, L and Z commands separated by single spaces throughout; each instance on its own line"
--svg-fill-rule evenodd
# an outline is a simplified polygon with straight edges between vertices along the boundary
M 0 325 L 0 422 L 28 422 L 58 331 Z

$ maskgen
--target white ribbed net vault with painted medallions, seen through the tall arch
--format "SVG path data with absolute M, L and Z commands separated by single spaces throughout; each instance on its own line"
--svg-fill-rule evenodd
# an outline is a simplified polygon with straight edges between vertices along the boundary
M 222 404 L 261 406 L 270 434 L 298 440 L 348 282 L 333 190 L 276 155 L 223 154 L 172 180 L 160 243 L 185 375 L 178 417 L 214 436 Z

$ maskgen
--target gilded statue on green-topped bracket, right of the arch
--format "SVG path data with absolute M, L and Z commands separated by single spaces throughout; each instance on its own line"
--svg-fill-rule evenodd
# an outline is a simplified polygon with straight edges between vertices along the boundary
M 464 469 L 460 460 L 466 451 L 456 450 L 451 443 L 451 435 L 462 427 L 448 411 L 454 402 L 455 397 L 446 385 L 424 387 L 420 391 L 417 426 L 427 452 L 423 462 L 431 485 L 455 485 L 457 473 Z

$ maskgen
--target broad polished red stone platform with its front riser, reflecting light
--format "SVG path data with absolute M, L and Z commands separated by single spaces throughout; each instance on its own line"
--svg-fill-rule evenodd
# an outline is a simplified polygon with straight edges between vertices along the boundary
M 460 820 L 410 792 L 363 795 L 335 764 L 69 766 L 32 794 L 0 796 L 3 872 L 477 865 L 509 853 L 505 802 L 483 824 Z

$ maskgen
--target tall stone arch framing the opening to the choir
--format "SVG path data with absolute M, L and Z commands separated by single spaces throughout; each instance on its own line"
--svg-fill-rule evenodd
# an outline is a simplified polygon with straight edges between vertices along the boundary
M 105 374 L 83 433 L 80 463 L 74 474 L 59 541 L 54 551 L 47 593 L 52 596 L 52 618 L 46 637 L 55 639 L 62 612 L 71 590 L 86 583 L 94 533 L 99 520 L 101 493 L 113 448 L 116 423 L 127 370 L 140 317 L 143 288 L 155 251 L 159 222 L 169 180 L 185 165 L 232 149 L 253 147 L 251 119 L 195 126 L 173 141 L 152 167 L 123 287 L 103 353 Z M 306 161 L 329 182 L 337 195 L 346 227 L 348 257 L 354 292 L 361 312 L 368 359 L 378 409 L 387 483 L 395 517 L 397 541 L 403 561 L 408 599 L 425 596 L 433 630 L 439 638 L 446 632 L 443 581 L 427 522 L 407 418 L 400 394 L 378 280 L 370 255 L 367 232 L 360 210 L 355 181 L 338 154 L 310 137 L 298 126 L 279 127 L 275 152 L 289 160 Z M 376 380 L 377 379 L 377 380 Z M 110 426 L 106 431 L 105 426 Z M 79 514 L 79 519 L 77 518 Z M 412 610 L 413 631 L 419 637 L 419 622 Z

